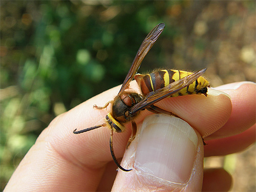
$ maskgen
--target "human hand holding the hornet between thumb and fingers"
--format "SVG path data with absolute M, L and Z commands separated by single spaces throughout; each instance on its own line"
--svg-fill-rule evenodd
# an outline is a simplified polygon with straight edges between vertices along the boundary
M 136 83 L 132 82 L 130 87 L 135 88 Z M 228 190 L 231 178 L 220 169 L 205 171 L 202 184 L 203 157 L 236 153 L 255 142 L 255 83 L 231 83 L 216 88 L 228 93 L 231 101 L 225 94 L 214 92 L 215 96 L 189 95 L 158 102 L 157 106 L 181 117 L 195 132 L 177 118 L 157 116 L 156 124 L 155 116 L 147 117 L 143 134 L 135 138 L 122 160 L 124 168 L 133 170 L 119 170 L 116 177 L 116 165 L 109 150 L 110 130 L 103 127 L 81 135 L 72 131 L 102 123 L 106 111 L 94 110 L 92 106 L 113 99 L 119 89 L 120 86 L 103 92 L 56 117 L 20 162 L 5 191 L 200 191 L 202 185 L 203 190 Z M 146 110 L 141 112 L 136 118 L 138 127 L 150 114 Z M 165 118 L 181 123 L 178 132 L 171 129 L 166 135 L 174 122 L 163 123 Z M 114 134 L 116 157 L 123 156 L 130 135 L 129 123 L 125 132 Z M 201 136 L 208 143 L 204 150 Z M 170 140 L 178 145 L 172 145 Z M 167 143 L 161 144 L 162 141 Z M 213 186 L 217 188 L 209 188 L 216 180 L 219 183 Z

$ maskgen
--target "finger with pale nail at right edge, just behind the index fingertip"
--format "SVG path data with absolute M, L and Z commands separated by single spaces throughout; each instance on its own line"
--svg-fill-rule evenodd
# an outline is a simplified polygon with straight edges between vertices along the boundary
M 217 87 L 227 93 L 232 102 L 232 112 L 228 121 L 206 140 L 219 139 L 240 134 L 249 129 L 256 121 L 256 83 L 235 82 Z

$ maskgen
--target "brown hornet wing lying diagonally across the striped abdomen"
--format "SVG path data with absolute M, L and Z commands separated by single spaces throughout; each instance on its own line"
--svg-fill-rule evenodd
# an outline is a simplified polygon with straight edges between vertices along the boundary
M 137 103 L 131 108 L 130 113 L 135 114 L 136 112 L 147 108 L 147 106 L 150 106 L 170 95 L 179 92 L 183 88 L 189 86 L 189 84 L 193 83 L 200 76 L 202 76 L 205 70 L 206 68 L 183 77 L 177 81 L 174 81 L 173 83 L 168 84 L 168 86 L 158 89 L 155 92 L 149 93 L 141 102 Z

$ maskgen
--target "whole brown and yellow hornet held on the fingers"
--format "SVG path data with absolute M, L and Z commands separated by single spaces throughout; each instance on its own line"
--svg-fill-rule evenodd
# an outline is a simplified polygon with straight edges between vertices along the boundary
M 113 150 L 113 132 L 123 132 L 125 130 L 124 123 L 131 122 L 133 133 L 128 142 L 130 143 L 135 138 L 137 131 L 134 118 L 141 110 L 146 109 L 154 113 L 175 115 L 172 112 L 158 108 L 154 104 L 166 97 L 188 94 L 204 94 L 207 96 L 209 82 L 202 77 L 206 69 L 195 73 L 180 70 L 156 70 L 146 75 L 137 74 L 143 58 L 153 47 L 164 28 L 163 23 L 158 24 L 143 40 L 133 60 L 132 67 L 114 100 L 107 102 L 104 106 L 97 106 L 96 104 L 93 106 L 95 109 L 105 109 L 110 103 L 112 104 L 111 112 L 105 117 L 106 122 L 84 130 L 76 131 L 75 129 L 73 131 L 74 134 L 80 134 L 102 126 L 109 126 L 111 128 L 110 151 L 112 158 L 116 165 L 125 172 L 132 169 L 125 169 L 118 163 Z M 134 78 L 141 89 L 140 94 L 126 90 Z

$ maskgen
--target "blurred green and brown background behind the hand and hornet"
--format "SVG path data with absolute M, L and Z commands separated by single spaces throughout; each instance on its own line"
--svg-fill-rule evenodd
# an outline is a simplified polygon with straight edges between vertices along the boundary
M 165 30 L 140 73 L 207 67 L 211 87 L 255 82 L 255 1 L 0 3 L 1 190 L 55 116 L 122 83 L 158 23 Z M 233 191 L 256 190 L 255 145 L 219 164 Z

